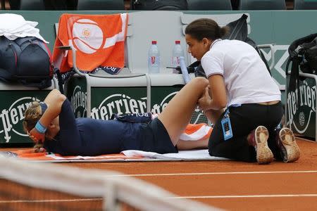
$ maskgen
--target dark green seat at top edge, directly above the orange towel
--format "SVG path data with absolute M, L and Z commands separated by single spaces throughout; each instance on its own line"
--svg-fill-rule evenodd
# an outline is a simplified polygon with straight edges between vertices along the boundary
M 78 11 L 124 11 L 123 0 L 78 0 Z

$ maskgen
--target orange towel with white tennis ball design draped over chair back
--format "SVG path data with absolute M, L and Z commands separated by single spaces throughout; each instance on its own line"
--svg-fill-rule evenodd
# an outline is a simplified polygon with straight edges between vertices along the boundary
M 54 65 L 61 73 L 73 68 L 71 51 L 58 46 L 74 46 L 77 68 L 91 72 L 99 66 L 123 68 L 128 13 L 111 15 L 63 14 L 54 45 Z

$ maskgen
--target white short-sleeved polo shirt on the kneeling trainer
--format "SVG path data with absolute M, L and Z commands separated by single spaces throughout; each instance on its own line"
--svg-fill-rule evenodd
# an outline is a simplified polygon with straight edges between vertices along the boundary
M 206 76 L 223 75 L 228 105 L 280 101 L 280 89 L 259 53 L 239 40 L 217 39 L 201 58 Z

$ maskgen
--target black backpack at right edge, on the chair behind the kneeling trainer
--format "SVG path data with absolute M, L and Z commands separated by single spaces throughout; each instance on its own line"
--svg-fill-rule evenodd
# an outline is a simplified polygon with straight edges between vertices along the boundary
M 288 53 L 290 56 L 286 63 L 286 74 L 292 62 L 288 89 L 299 90 L 299 79 L 304 79 L 299 77 L 299 70 L 317 75 L 317 33 L 294 40 L 288 48 Z

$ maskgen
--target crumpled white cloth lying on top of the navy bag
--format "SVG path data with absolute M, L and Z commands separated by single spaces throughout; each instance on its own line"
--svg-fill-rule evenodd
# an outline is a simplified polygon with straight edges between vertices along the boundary
M 27 21 L 22 15 L 13 13 L 0 14 L 0 20 L 0 36 L 10 40 L 18 37 L 37 37 L 49 43 L 39 34 L 39 29 L 35 28 L 38 24 L 35 21 Z

